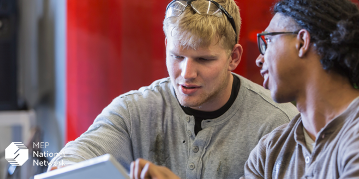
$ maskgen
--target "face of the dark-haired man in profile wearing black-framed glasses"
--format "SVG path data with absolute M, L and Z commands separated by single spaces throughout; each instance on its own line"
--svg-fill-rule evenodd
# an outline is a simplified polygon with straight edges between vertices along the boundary
M 276 13 L 266 32 L 288 32 L 299 29 L 288 29 L 293 23 L 290 17 Z M 267 49 L 264 55 L 257 58 L 257 66 L 262 67 L 263 87 L 271 91 L 271 96 L 278 103 L 295 100 L 301 83 L 301 60 L 298 58 L 297 34 L 265 36 Z

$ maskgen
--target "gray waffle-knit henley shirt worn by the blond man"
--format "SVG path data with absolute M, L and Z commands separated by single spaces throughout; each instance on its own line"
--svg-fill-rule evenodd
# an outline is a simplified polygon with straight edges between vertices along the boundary
M 126 169 L 144 158 L 183 179 L 238 179 L 260 138 L 298 111 L 237 76 L 241 86 L 235 102 L 222 116 L 203 120 L 198 135 L 194 117 L 184 113 L 170 78 L 164 78 L 115 98 L 85 133 L 66 144 L 61 150 L 66 156 L 52 161 L 71 164 L 109 153 Z

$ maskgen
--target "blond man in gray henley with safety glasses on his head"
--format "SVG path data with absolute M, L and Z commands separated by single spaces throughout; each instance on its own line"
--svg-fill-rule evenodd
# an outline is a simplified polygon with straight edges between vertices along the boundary
M 110 153 L 128 170 L 144 158 L 182 178 L 239 178 L 260 138 L 298 114 L 231 73 L 243 51 L 233 0 L 174 0 L 163 24 L 170 77 L 114 99 L 53 161 Z

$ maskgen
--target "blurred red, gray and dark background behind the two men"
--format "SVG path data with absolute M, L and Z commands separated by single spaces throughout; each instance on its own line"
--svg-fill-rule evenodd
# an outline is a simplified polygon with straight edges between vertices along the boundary
M 33 150 L 58 152 L 112 99 L 168 76 L 162 21 L 170 1 L 0 0 L 0 179 L 45 171 Z M 275 1 L 236 0 L 244 53 L 234 72 L 258 84 L 256 34 Z M 5 160 L 11 142 L 29 148 L 21 167 Z

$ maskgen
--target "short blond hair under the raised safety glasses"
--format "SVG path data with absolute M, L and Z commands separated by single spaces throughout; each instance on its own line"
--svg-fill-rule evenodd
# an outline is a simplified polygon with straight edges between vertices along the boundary
M 239 8 L 234 0 L 215 0 L 222 5 L 233 17 L 236 31 L 229 22 L 227 16 L 222 12 L 222 18 L 214 15 L 200 15 L 191 7 L 185 8 L 178 17 L 165 18 L 163 30 L 166 37 L 172 36 L 180 43 L 183 48 L 197 49 L 198 47 L 208 47 L 215 37 L 218 43 L 227 51 L 232 51 L 236 37 L 239 39 L 241 17 Z

